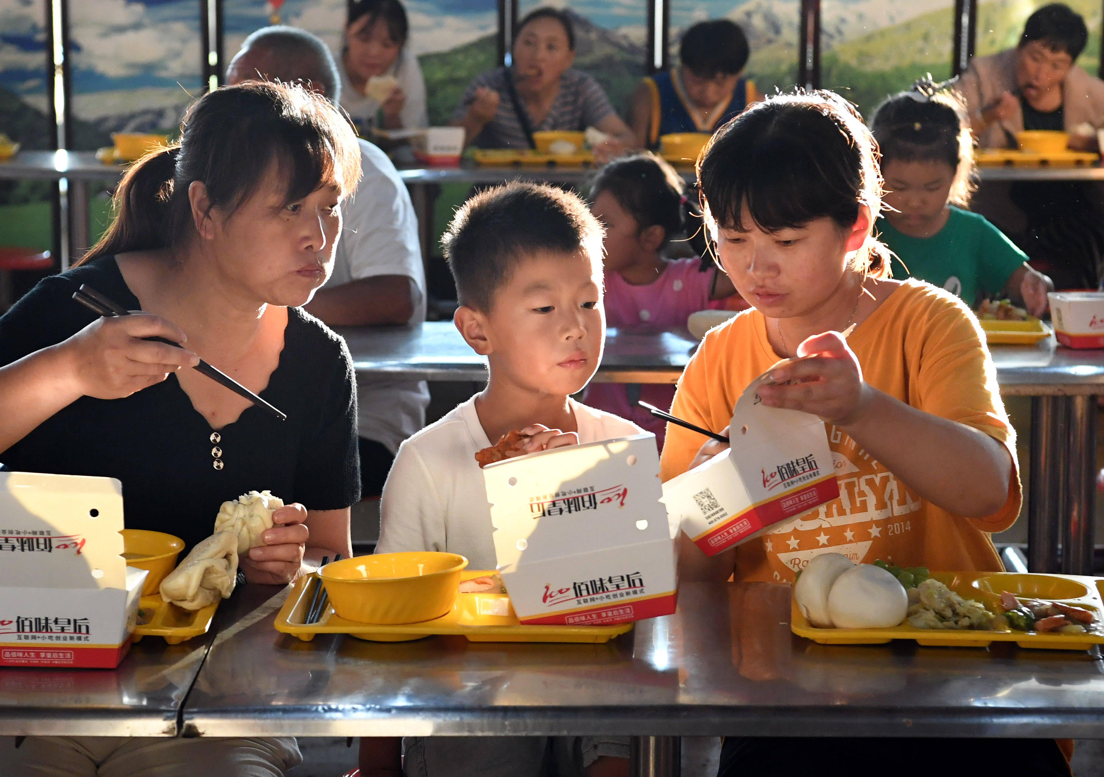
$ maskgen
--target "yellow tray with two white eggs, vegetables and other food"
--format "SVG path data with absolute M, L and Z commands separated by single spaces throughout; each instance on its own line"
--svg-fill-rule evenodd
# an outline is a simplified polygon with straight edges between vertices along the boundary
M 790 630 L 822 645 L 1089 650 L 1104 643 L 1096 577 L 902 570 L 837 553 L 809 562 L 794 584 Z

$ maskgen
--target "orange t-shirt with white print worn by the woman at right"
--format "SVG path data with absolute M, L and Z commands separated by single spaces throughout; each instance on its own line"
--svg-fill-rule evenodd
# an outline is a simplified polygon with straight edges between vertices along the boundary
M 728 426 L 744 388 L 778 361 L 765 326 L 752 309 L 709 332 L 682 374 L 671 413 L 714 432 Z M 958 298 L 906 280 L 856 328 L 848 344 L 871 386 L 984 432 L 1005 445 L 1017 467 L 1016 433 L 992 360 L 977 319 Z M 854 562 L 884 558 L 941 571 L 1002 570 L 989 533 L 1004 531 L 1019 514 L 1018 471 L 1004 508 L 986 518 L 962 518 L 910 490 L 835 425 L 825 428 L 840 496 L 739 545 L 735 579 L 793 581 L 796 570 L 828 552 Z M 704 441 L 696 432 L 668 426 L 660 477 L 684 472 Z

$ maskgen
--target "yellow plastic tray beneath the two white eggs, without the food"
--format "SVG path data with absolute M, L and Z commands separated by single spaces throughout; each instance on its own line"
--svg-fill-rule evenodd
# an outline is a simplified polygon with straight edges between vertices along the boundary
M 957 593 L 964 599 L 974 599 L 991 613 L 1004 611 L 1000 594 L 1052 599 L 1071 606 L 1085 607 L 1104 621 L 1104 602 L 1101 599 L 1102 581 L 1080 575 L 1036 575 L 1015 572 L 933 572 L 932 577 Z M 1021 648 L 1050 650 L 1089 650 L 1104 645 L 1098 634 L 1031 634 L 1025 631 L 983 631 L 951 629 L 915 629 L 904 621 L 889 629 L 820 629 L 811 626 L 797 603 L 790 599 L 789 628 L 798 637 L 806 637 L 821 645 L 883 645 L 894 639 L 912 639 L 917 645 L 985 648 L 991 642 L 1016 642 Z

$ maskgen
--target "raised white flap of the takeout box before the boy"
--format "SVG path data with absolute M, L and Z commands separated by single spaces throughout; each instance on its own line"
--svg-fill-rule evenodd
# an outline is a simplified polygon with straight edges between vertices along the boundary
M 482 472 L 500 570 L 670 542 L 655 435 L 519 456 Z

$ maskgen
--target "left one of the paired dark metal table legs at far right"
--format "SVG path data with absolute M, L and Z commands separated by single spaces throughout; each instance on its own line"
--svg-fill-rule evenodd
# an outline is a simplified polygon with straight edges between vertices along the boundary
M 1065 514 L 1066 397 L 1031 397 L 1031 471 L 1028 482 L 1028 568 L 1058 572 L 1059 525 Z

